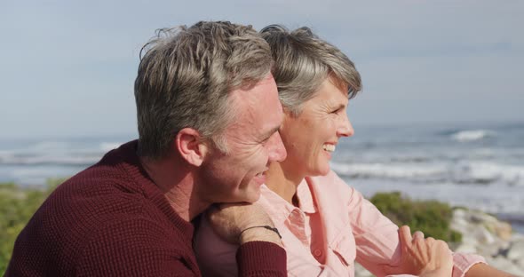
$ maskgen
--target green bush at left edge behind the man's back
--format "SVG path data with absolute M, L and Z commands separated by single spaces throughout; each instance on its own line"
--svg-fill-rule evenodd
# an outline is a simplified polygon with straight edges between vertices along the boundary
M 20 231 L 54 188 L 64 179 L 50 179 L 43 189 L 0 184 L 0 276 L 4 275 Z

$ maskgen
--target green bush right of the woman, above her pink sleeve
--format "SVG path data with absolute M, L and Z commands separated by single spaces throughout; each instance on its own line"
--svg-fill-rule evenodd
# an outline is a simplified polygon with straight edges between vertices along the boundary
M 407 225 L 412 232 L 420 230 L 442 241 L 462 241 L 461 233 L 449 229 L 453 210 L 447 203 L 413 201 L 400 192 L 377 193 L 370 201 L 398 226 Z

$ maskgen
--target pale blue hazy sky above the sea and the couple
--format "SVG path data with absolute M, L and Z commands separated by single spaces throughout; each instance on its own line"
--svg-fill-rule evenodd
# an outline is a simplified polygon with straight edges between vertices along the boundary
M 0 1 L 0 139 L 136 131 L 155 29 L 307 26 L 353 60 L 355 126 L 524 122 L 524 1 Z

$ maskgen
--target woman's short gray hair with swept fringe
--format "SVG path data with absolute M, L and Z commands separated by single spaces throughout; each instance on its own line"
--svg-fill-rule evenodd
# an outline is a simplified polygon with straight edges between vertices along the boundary
M 349 99 L 361 91 L 361 75 L 353 62 L 310 28 L 290 32 L 283 26 L 270 25 L 260 33 L 271 47 L 274 80 L 282 106 L 291 115 L 300 114 L 302 105 L 314 97 L 328 77 L 348 87 Z

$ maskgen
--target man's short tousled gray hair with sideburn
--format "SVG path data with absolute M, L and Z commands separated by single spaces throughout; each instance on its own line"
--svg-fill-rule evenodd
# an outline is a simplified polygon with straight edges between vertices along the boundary
M 135 81 L 139 154 L 162 158 L 187 127 L 226 152 L 222 132 L 235 113 L 229 92 L 258 83 L 272 65 L 269 45 L 250 26 L 201 21 L 157 30 L 140 51 Z

